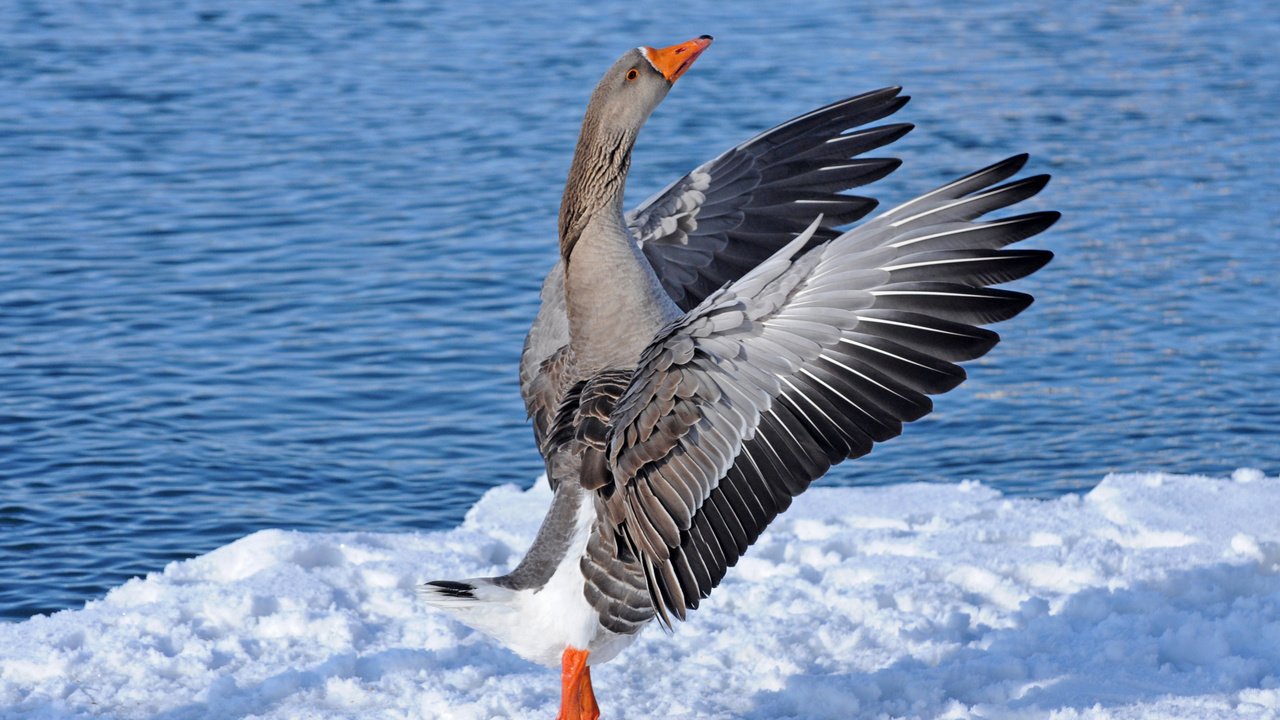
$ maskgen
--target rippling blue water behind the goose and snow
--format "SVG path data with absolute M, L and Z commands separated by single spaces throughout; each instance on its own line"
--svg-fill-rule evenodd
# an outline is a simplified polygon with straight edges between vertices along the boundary
M 9 0 L 0 616 L 530 483 L 516 363 L 585 99 L 627 47 L 704 32 L 636 201 L 893 83 L 918 129 L 886 202 L 1024 150 L 1056 178 L 1037 305 L 823 483 L 1280 471 L 1280 12 L 1110 5 Z

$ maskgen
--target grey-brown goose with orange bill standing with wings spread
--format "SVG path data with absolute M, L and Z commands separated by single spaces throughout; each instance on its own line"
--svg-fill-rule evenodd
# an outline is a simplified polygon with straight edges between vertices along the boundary
M 590 667 L 696 610 L 792 498 L 932 410 L 1032 297 L 1007 250 L 1052 225 L 980 220 L 1037 195 L 1016 155 L 847 231 L 876 201 L 841 191 L 895 159 L 860 154 L 908 124 L 861 127 L 900 88 L 820 108 L 739 145 L 631 213 L 641 126 L 710 45 L 636 47 L 596 85 L 559 209 L 559 260 L 521 356 L 553 489 L 502 577 L 433 580 L 430 605 L 561 666 L 561 719 L 595 720 Z

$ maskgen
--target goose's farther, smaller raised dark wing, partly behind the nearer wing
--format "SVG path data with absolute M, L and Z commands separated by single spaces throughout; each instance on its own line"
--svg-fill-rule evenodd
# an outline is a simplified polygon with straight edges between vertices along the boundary
M 888 124 L 846 132 L 897 111 L 908 97 L 887 87 L 819 108 L 765 131 L 658 192 L 627 224 L 682 310 L 773 255 L 822 214 L 815 242 L 876 208 L 841 195 L 893 172 L 893 158 L 858 155 L 906 135 Z

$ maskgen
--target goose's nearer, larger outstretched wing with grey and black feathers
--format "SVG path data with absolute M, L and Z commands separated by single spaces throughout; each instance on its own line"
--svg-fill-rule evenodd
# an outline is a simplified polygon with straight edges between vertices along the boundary
M 812 480 L 964 380 L 1028 295 L 987 286 L 1052 255 L 1002 250 L 1057 220 L 980 215 L 1047 176 L 992 187 L 1016 156 L 805 252 L 815 222 L 645 350 L 611 418 L 607 516 L 643 560 L 659 616 L 684 619 Z

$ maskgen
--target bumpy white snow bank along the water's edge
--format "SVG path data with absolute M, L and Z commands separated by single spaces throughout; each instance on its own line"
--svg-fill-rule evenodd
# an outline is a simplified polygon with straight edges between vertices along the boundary
M 0 717 L 552 717 L 558 678 L 421 603 L 498 574 L 545 483 L 453 530 L 265 530 L 0 625 Z M 814 488 L 692 620 L 593 673 L 605 717 L 1277 717 L 1280 478 Z

